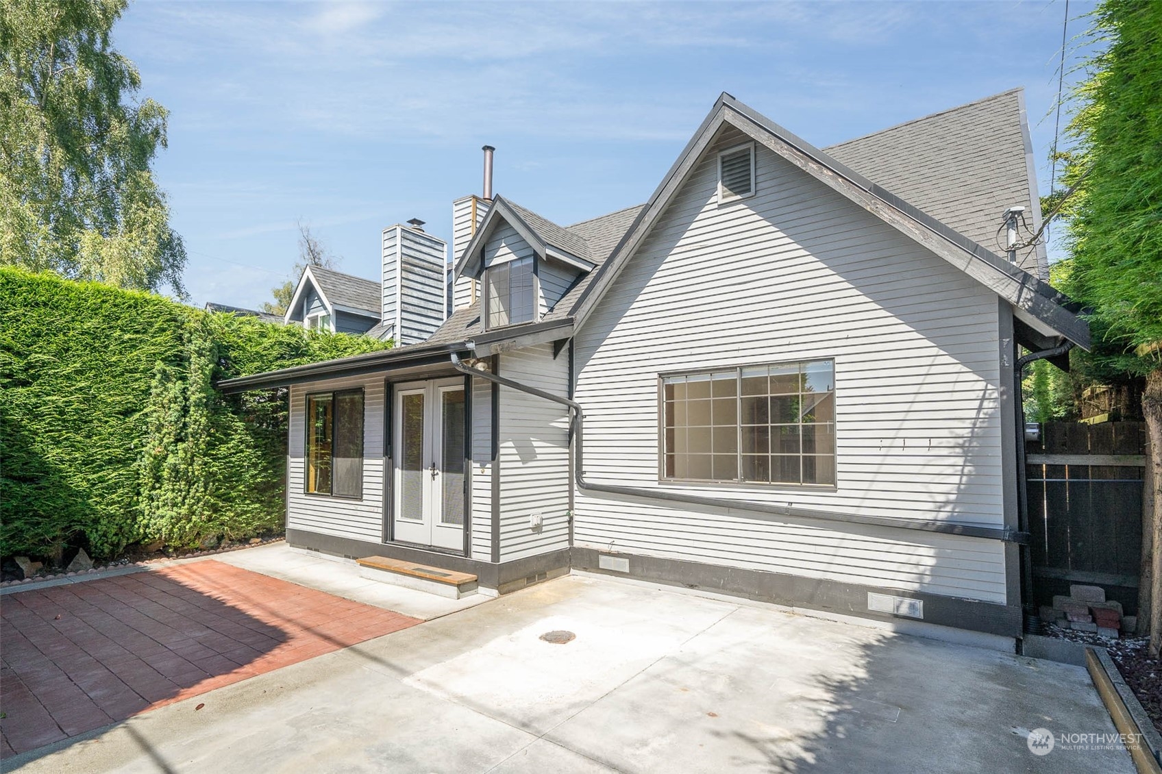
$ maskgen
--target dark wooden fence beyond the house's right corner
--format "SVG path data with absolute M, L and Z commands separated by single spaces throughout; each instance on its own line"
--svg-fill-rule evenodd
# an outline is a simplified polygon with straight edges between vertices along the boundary
M 1068 593 L 1070 582 L 1138 588 L 1145 450 L 1143 422 L 1048 422 L 1040 440 L 1026 443 L 1031 558 L 1041 603 Z

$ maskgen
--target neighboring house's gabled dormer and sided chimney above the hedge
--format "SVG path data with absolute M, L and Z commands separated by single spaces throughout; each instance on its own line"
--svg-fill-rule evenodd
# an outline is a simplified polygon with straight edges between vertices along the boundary
M 399 345 L 426 339 L 447 318 L 447 244 L 423 221 L 383 229 L 380 281 L 330 268 L 303 270 L 286 322 L 311 330 L 365 334 Z

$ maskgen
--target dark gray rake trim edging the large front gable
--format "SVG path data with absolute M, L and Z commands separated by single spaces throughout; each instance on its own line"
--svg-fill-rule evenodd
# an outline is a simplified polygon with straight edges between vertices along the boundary
M 749 135 L 787 162 L 867 209 L 882 221 L 968 274 L 1011 303 L 1024 322 L 1089 347 L 1089 327 L 1064 308 L 1068 299 L 1033 274 L 1023 271 L 973 239 L 888 192 L 824 151 L 739 102 L 725 92 L 687 143 L 686 149 L 654 191 L 633 225 L 595 272 L 569 313 L 576 325 L 586 317 L 637 250 L 670 199 L 682 187 L 695 163 L 724 126 Z M 999 215 L 999 213 L 998 213 Z

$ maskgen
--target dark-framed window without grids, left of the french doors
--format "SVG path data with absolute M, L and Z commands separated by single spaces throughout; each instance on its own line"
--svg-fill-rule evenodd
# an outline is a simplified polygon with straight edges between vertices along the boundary
M 307 492 L 363 497 L 361 389 L 307 396 Z

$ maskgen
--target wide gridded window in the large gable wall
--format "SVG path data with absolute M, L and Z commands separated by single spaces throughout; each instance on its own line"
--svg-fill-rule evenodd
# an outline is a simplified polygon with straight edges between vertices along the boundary
M 662 378 L 662 479 L 835 483 L 834 361 Z

